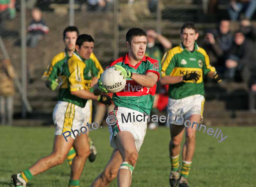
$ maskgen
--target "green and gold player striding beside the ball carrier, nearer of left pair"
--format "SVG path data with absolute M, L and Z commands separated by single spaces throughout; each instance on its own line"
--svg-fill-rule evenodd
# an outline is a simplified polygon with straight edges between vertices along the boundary
M 62 89 L 59 96 L 59 102 L 53 111 L 53 121 L 56 124 L 53 151 L 49 156 L 38 160 L 29 169 L 20 174 L 12 175 L 14 185 L 25 187 L 27 182 L 33 176 L 40 174 L 54 166 L 62 164 L 72 146 L 76 151 L 76 156 L 71 166 L 71 176 L 69 187 L 79 187 L 79 179 L 83 171 L 84 163 L 90 154 L 87 134 L 78 130 L 83 126 L 84 114 L 82 108 L 87 99 L 98 100 L 109 106 L 111 99 L 109 96 L 95 96 L 89 91 L 91 84 L 91 71 L 93 69 L 88 65 L 93 63 L 90 55 L 93 52 L 94 40 L 90 35 L 79 35 L 76 40 L 76 51 L 65 60 L 63 64 L 63 73 L 66 79 L 62 79 L 65 88 Z M 66 141 L 62 134 L 70 131 L 70 136 Z

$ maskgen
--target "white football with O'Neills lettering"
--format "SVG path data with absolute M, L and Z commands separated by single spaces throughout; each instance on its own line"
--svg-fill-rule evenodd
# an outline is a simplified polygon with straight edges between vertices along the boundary
M 122 91 L 125 87 L 126 79 L 120 73 L 121 71 L 115 70 L 114 67 L 106 69 L 101 75 L 102 86 L 112 93 Z

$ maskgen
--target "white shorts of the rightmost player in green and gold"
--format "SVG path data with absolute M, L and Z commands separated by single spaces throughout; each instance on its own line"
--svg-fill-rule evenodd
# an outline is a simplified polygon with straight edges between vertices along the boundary
M 181 116 L 184 121 L 192 114 L 200 114 L 203 119 L 204 101 L 204 96 L 199 94 L 182 99 L 169 98 L 167 108 L 169 123 L 182 123 L 182 119 L 179 117 L 175 121 L 176 115 Z

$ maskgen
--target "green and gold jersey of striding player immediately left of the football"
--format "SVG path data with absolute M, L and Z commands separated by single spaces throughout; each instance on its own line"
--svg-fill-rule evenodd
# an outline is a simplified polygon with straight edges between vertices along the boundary
M 63 62 L 59 100 L 74 103 L 83 108 L 87 99 L 72 95 L 71 92 L 83 89 L 89 91 L 92 77 L 99 77 L 101 71 L 103 72 L 103 69 L 99 63 L 96 65 L 91 58 L 83 60 L 77 52 L 74 52 L 68 60 Z

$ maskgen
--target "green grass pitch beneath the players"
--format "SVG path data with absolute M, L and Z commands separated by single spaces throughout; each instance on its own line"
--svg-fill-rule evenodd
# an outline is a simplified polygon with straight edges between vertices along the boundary
M 216 129 L 217 127 L 213 127 Z M 197 132 L 196 152 L 189 174 L 190 187 L 255 187 L 256 128 L 218 127 L 228 137 L 221 143 Z M 1 126 L 0 186 L 9 186 L 11 174 L 23 171 L 52 151 L 54 127 Z M 98 155 L 86 162 L 80 187 L 89 187 L 103 170 L 112 149 L 107 128 L 91 132 Z M 169 129 L 147 131 L 133 172 L 132 187 L 169 187 Z M 29 187 L 65 187 L 70 169 L 67 161 L 35 176 Z M 110 187 L 116 187 L 114 180 Z

